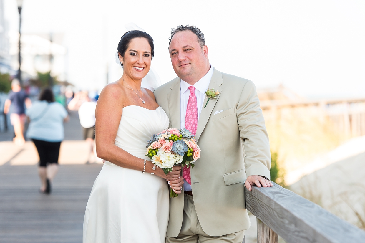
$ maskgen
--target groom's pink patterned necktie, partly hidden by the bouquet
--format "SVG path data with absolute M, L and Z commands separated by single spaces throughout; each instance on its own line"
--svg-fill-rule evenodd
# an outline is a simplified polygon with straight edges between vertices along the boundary
M 188 89 L 190 90 L 190 95 L 188 105 L 186 107 L 185 128 L 195 135 L 196 127 L 198 126 L 198 107 L 196 103 L 196 95 L 194 93 L 195 87 L 190 86 Z M 185 181 L 187 181 L 191 185 L 190 167 L 183 168 L 183 177 Z

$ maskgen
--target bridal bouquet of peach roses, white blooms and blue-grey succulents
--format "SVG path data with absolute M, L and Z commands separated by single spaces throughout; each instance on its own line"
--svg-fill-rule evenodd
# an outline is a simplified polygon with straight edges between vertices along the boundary
M 155 166 L 162 168 L 167 175 L 172 167 L 181 164 L 182 167 L 194 167 L 194 162 L 200 158 L 200 148 L 195 136 L 188 129 L 170 128 L 153 134 L 147 141 L 147 153 Z M 170 197 L 177 197 L 170 188 Z

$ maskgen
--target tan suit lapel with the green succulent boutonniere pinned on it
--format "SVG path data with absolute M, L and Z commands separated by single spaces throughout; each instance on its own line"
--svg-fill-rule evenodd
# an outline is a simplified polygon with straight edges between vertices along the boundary
M 220 87 L 222 84 L 223 84 L 222 73 L 219 72 L 217 69 L 214 68 L 213 75 L 212 75 L 212 79 L 210 80 L 208 89 L 214 88 L 215 91 L 222 92 L 223 87 Z M 207 103 L 207 100 L 208 100 L 208 97 L 205 95 L 204 103 L 203 103 L 203 108 L 201 109 L 201 113 L 200 113 L 200 116 L 199 116 L 198 126 L 196 128 L 196 134 L 195 134 L 196 141 L 199 140 L 199 137 L 200 137 L 201 133 L 203 132 L 203 130 L 205 128 L 205 125 L 207 125 L 208 119 L 209 119 L 209 117 L 210 117 L 210 115 L 212 113 L 212 110 L 213 110 L 215 104 L 217 103 L 217 101 L 218 101 L 218 99 L 220 97 L 220 94 L 218 96 L 216 96 L 216 97 L 217 98 L 215 98 L 215 99 L 209 100 L 207 106 L 204 108 L 205 103 Z M 180 114 L 179 114 L 179 117 L 180 117 Z

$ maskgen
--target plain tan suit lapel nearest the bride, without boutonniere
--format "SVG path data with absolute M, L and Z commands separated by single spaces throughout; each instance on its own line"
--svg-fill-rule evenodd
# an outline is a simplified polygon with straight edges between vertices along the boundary
M 175 80 L 172 86 L 170 86 L 171 91 L 167 94 L 167 100 L 171 127 L 180 129 L 180 78 L 177 77 Z

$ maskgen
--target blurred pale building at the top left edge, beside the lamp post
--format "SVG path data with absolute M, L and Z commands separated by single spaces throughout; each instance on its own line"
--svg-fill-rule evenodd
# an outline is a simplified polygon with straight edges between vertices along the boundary
M 10 67 L 8 23 L 4 18 L 4 0 L 0 0 L 0 73 L 15 74 Z

